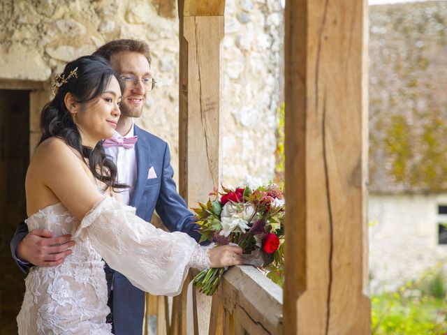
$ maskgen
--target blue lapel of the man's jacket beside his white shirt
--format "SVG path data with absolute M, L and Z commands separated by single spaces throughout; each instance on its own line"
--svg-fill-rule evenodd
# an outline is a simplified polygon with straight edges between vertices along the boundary
M 135 153 L 137 157 L 137 181 L 131 195 L 130 205 L 132 207 L 137 207 L 137 204 L 140 203 L 142 193 L 145 191 L 147 174 L 149 173 L 150 149 L 149 143 L 147 143 L 142 130 L 137 126 L 134 127 L 133 132 L 138 136 L 138 140 L 135 143 Z

